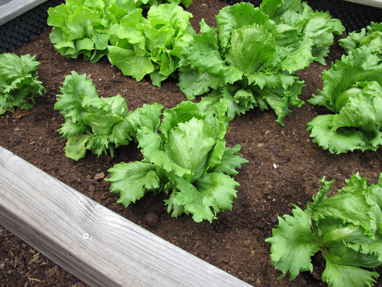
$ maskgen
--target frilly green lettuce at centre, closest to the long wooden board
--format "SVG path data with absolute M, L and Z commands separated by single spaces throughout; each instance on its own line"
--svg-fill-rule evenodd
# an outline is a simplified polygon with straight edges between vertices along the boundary
M 105 179 L 119 194 L 118 203 L 128 206 L 146 192 L 163 191 L 172 217 L 186 213 L 196 222 L 211 222 L 217 212 L 231 210 L 239 183 L 230 175 L 247 160 L 238 154 L 239 145 L 226 147 L 226 110 L 226 101 L 208 114 L 187 101 L 165 109 L 162 123 L 159 116 L 142 115 L 137 140 L 143 160 L 116 164 Z

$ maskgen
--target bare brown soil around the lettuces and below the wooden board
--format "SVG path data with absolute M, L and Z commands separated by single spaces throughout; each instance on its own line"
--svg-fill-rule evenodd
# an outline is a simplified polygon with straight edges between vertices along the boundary
M 194 0 L 188 9 L 193 14 L 194 29 L 199 30 L 202 18 L 215 26 L 215 15 L 225 5 L 218 0 Z M 285 118 L 285 127 L 275 122 L 272 110 L 261 112 L 255 108 L 236 117 L 226 135 L 227 144 L 240 144 L 241 154 L 249 160 L 236 176 L 240 186 L 232 211 L 218 213 L 218 219 L 212 223 L 195 223 L 187 215 L 171 218 L 163 203 L 165 196 L 150 195 L 124 208 L 116 203 L 118 197 L 109 191 L 109 183 L 99 174 L 108 177 L 107 170 L 114 164 L 141 159 L 140 151 L 130 144 L 117 149 L 114 158 L 106 155 L 97 158 L 90 153 L 79 161 L 65 157 L 66 139 L 61 139 L 57 132 L 64 119 L 53 110 L 64 75 L 71 71 L 88 74 L 100 96 L 120 94 L 130 110 L 153 102 L 171 108 L 187 99 L 176 86 L 175 79 L 165 81 L 159 88 L 147 79 L 137 82 L 123 76 L 107 58 L 96 64 L 83 58 L 67 59 L 53 49 L 49 32 L 50 28 L 13 51 L 18 55 L 37 54 L 41 62 L 39 79 L 47 92 L 36 99 L 35 108 L 27 115 L 15 119 L 7 112 L 0 117 L 1 146 L 132 222 L 253 286 L 326 286 L 320 279 L 324 262 L 319 256 L 313 258 L 313 275 L 304 272 L 291 282 L 287 276 L 277 280 L 281 273 L 272 266 L 270 244 L 264 239 L 271 236 L 272 228 L 278 223 L 277 216 L 291 214 L 291 203 L 305 208 L 320 188 L 323 176 L 327 180 L 335 179 L 331 194 L 356 172 L 367 177 L 369 184 L 377 183 L 381 172 L 381 148 L 377 152 L 333 155 L 312 143 L 310 132 L 306 130 L 306 124 L 313 117 L 326 113 L 324 108 L 308 103 L 295 107 Z M 322 88 L 321 72 L 329 69 L 343 53 L 335 41 L 327 66 L 312 63 L 299 73 L 306 84 L 300 99 L 306 101 Z M 1 286 L 85 286 L 1 227 L 0 245 Z M 378 271 L 382 274 L 381 269 Z M 375 286 L 382 286 L 382 281 Z

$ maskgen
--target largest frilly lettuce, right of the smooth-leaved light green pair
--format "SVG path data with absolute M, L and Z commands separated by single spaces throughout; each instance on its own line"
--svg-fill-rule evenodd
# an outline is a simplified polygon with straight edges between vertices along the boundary
M 202 99 L 209 106 L 228 100 L 232 119 L 250 108 L 273 108 L 277 122 L 291 112 L 303 82 L 297 71 L 314 59 L 312 40 L 300 40 L 299 29 L 277 25 L 250 3 L 226 6 L 216 16 L 217 28 L 200 23 L 190 51 L 185 51 L 178 86 L 188 99 L 213 90 Z

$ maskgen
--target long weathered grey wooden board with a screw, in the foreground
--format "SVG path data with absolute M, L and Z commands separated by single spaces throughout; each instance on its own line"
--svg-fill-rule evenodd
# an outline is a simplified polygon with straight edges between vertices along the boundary
M 250 287 L 1 146 L 0 225 L 90 286 Z

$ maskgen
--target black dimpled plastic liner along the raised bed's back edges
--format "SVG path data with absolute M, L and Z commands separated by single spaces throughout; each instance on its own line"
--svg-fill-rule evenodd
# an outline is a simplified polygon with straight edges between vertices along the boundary
M 32 35 L 39 35 L 48 28 L 48 9 L 63 3 L 63 0 L 48 0 L 18 18 L 0 26 L 0 53 L 11 52 L 28 42 Z M 238 0 L 225 0 L 233 5 Z M 248 0 L 259 6 L 262 0 Z M 347 32 L 357 31 L 370 25 L 370 22 L 382 22 L 382 9 L 365 6 L 344 0 L 308 0 L 313 10 L 329 11 L 333 18 L 340 19 Z

